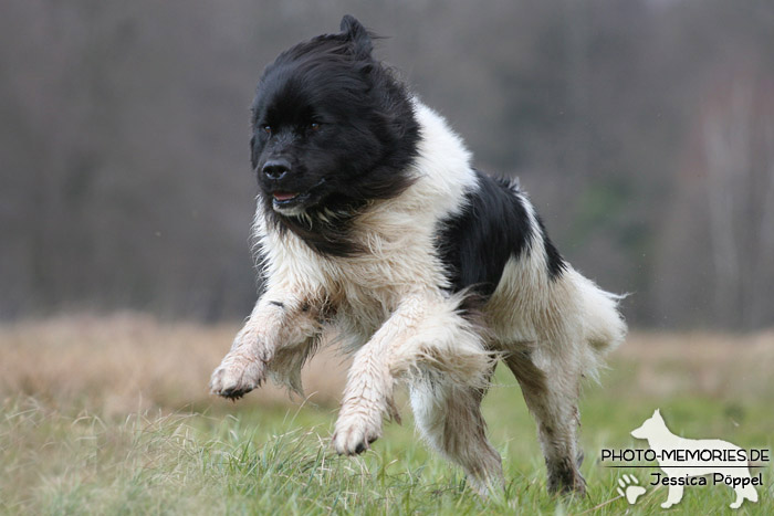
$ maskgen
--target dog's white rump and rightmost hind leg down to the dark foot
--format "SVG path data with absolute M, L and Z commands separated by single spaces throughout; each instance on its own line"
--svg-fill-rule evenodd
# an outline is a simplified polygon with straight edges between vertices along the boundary
M 516 309 L 509 319 L 498 305 L 499 347 L 537 423 L 548 489 L 584 493 L 577 447 L 580 382 L 596 378 L 604 355 L 624 340 L 626 325 L 617 312 L 617 296 L 572 267 L 547 282 L 534 273 L 542 266 L 536 261 L 506 267 L 506 287 L 495 303 Z M 523 306 L 527 295 L 531 303 Z

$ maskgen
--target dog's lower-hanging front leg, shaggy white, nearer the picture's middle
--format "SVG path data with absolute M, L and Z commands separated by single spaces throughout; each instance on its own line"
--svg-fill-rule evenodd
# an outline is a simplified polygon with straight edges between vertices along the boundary
M 458 305 L 459 297 L 409 296 L 355 354 L 333 436 L 336 452 L 363 452 L 381 435 L 383 417 L 397 418 L 397 378 L 430 368 L 452 383 L 485 386 L 493 356 Z

